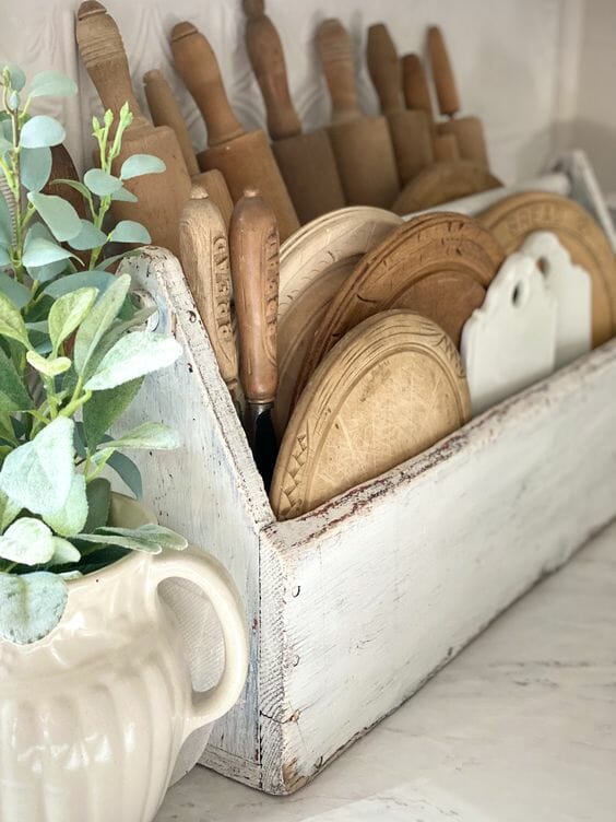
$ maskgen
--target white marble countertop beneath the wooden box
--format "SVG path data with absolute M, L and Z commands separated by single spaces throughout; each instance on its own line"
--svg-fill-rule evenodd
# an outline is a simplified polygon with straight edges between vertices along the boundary
M 155 822 L 615 822 L 616 524 L 311 785 L 197 767 Z

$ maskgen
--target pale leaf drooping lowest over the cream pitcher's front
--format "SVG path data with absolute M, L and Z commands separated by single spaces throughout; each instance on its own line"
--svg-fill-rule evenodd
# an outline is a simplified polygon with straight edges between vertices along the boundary
M 57 574 L 0 574 L 0 637 L 17 645 L 42 639 L 62 618 L 68 597 Z

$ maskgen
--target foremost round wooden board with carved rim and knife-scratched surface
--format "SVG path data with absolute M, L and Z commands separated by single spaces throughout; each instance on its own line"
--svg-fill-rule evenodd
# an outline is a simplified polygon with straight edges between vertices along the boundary
M 270 491 L 274 514 L 312 510 L 470 414 L 460 355 L 442 329 L 405 310 L 369 317 L 330 351 L 288 422 Z

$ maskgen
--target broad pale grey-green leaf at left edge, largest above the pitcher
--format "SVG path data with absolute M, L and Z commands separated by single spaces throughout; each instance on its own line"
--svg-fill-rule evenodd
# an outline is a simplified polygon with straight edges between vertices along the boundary
M 9 454 L 0 471 L 0 489 L 33 514 L 58 512 L 73 482 L 73 435 L 74 422 L 58 416 Z

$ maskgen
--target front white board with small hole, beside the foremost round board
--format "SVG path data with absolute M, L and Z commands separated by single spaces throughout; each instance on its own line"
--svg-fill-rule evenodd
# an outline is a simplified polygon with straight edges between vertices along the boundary
M 462 332 L 473 414 L 552 374 L 556 315 L 556 298 L 535 261 L 508 257 Z

